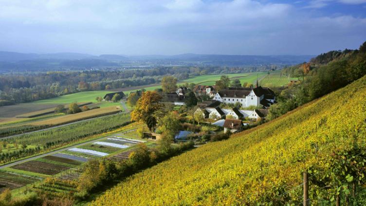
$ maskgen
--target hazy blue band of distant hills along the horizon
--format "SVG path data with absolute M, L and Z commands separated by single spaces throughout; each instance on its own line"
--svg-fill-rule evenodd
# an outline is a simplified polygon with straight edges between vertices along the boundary
M 314 55 L 221 55 L 194 54 L 178 55 L 117 55 L 99 56 L 84 53 L 19 53 L 0 51 L 0 72 L 52 69 L 86 69 L 125 66 L 262 66 L 294 65 L 309 61 Z M 112 63 L 111 63 L 112 62 Z M 133 62 L 133 63 L 132 63 Z M 65 68 L 66 67 L 66 68 Z

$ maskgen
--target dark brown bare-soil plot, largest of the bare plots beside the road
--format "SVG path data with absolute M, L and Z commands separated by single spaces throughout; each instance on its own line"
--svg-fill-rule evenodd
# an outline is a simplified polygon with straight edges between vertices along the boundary
M 16 170 L 36 172 L 36 173 L 48 174 L 48 175 L 54 175 L 59 172 L 70 169 L 69 167 L 65 167 L 65 166 L 61 166 L 61 165 L 55 165 L 55 164 L 39 162 L 39 161 L 34 161 L 34 160 L 15 165 L 11 168 L 16 169 Z

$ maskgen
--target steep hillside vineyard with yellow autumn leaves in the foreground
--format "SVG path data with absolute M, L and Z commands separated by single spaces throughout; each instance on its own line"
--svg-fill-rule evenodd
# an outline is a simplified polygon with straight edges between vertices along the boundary
M 336 184 L 323 175 L 338 170 L 332 159 L 338 152 L 355 143 L 365 146 L 365 99 L 366 76 L 280 118 L 137 173 L 91 205 L 297 205 L 303 201 L 304 170 L 313 172 L 311 204 L 329 205 Z M 339 171 L 355 183 L 348 171 Z M 357 181 L 364 184 L 365 177 Z M 356 205 L 364 205 L 357 196 L 364 188 L 355 189 Z M 342 192 L 349 199 L 349 189 Z

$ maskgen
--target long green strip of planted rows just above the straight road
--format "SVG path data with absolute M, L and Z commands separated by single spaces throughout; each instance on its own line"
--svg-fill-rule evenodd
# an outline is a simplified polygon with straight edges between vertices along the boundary
M 116 114 L 47 131 L 3 139 L 2 142 L 8 146 L 7 150 L 0 152 L 0 163 L 3 164 L 21 157 L 57 149 L 72 142 L 78 142 L 90 136 L 120 128 L 128 124 L 129 120 L 128 114 Z

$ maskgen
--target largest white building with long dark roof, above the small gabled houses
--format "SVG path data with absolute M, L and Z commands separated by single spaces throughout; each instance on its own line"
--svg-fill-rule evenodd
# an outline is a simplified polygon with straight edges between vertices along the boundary
M 240 103 L 242 107 L 269 107 L 275 103 L 275 92 L 262 86 L 256 88 L 232 87 L 220 90 L 216 93 L 214 100 L 221 103 Z

